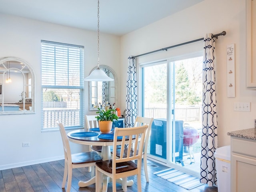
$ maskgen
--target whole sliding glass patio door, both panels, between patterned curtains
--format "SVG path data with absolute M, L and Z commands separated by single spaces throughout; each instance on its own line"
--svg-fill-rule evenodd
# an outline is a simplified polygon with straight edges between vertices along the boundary
M 186 172 L 200 170 L 202 56 L 140 65 L 141 114 L 153 117 L 148 156 Z

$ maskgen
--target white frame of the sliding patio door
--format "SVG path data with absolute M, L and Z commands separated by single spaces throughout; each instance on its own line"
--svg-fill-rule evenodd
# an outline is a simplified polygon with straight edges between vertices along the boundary
M 167 110 L 166 110 L 166 160 L 163 158 L 159 158 L 157 156 L 148 154 L 148 158 L 151 160 L 156 160 L 160 164 L 164 164 L 166 166 L 169 166 L 170 168 L 175 168 L 177 170 L 180 170 L 182 172 L 186 172 L 192 176 L 199 177 L 200 173 L 195 172 L 193 170 L 188 170 L 187 168 L 175 164 L 175 133 L 172 134 L 172 131 L 175 132 L 175 127 L 172 128 L 172 124 L 170 122 L 175 122 L 175 70 L 174 70 L 174 62 L 179 60 L 185 60 L 189 58 L 199 57 L 202 56 L 202 51 L 194 52 L 182 56 L 176 56 L 173 58 L 168 59 L 162 59 L 152 62 L 146 62 L 142 64 L 138 64 L 138 115 L 143 116 L 143 109 L 144 104 L 142 102 L 142 97 L 144 93 L 144 88 L 142 85 L 144 85 L 143 80 L 143 68 L 148 66 L 154 66 L 156 64 L 163 64 L 166 62 L 167 65 Z M 172 82 L 172 83 L 171 83 Z M 175 123 L 173 124 L 175 126 Z M 172 144 L 172 142 L 174 144 Z M 172 144 L 172 145 L 171 145 Z M 172 146 L 172 149 L 170 148 Z M 172 157 L 174 159 L 174 162 L 172 162 Z

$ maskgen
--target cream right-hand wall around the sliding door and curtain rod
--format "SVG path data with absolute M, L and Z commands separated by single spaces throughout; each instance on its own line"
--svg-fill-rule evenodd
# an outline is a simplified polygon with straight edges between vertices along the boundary
M 126 34 L 121 39 L 122 71 L 127 71 L 128 56 L 139 55 L 204 37 L 206 33 L 226 36 L 216 40 L 216 94 L 218 146 L 230 144 L 227 132 L 252 128 L 256 119 L 256 90 L 246 89 L 246 2 L 245 0 L 204 0 L 186 10 Z M 236 97 L 227 97 L 226 46 L 235 44 Z M 203 41 L 137 58 L 137 63 L 169 58 L 203 49 Z M 126 75 L 122 76 L 126 84 Z M 122 110 L 126 87 L 121 87 Z M 233 111 L 234 102 L 251 102 L 251 112 Z

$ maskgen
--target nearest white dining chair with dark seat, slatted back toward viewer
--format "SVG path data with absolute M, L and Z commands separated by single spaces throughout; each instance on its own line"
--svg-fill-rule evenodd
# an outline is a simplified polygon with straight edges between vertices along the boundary
M 144 141 L 147 128 L 148 125 L 132 128 L 115 128 L 112 160 L 98 161 L 95 164 L 96 192 L 99 192 L 102 186 L 102 174 L 112 178 L 113 192 L 116 192 L 116 179 L 122 178 L 122 189 L 126 192 L 127 177 L 137 175 L 138 192 L 141 192 L 141 164 L 144 142 L 139 141 Z M 135 140 L 132 138 L 133 136 L 136 138 Z M 119 158 L 116 156 L 117 150 L 119 151 L 119 149 L 117 149 L 118 140 L 122 140 Z M 128 145 L 126 145 L 126 140 L 129 140 Z M 128 148 L 128 153 L 124 154 L 126 147 Z M 137 149 L 138 153 L 130 154 L 130 151 Z

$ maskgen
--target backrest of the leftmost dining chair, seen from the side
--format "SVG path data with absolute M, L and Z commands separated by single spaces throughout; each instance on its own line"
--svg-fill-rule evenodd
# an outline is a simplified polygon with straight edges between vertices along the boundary
M 70 150 L 70 145 L 69 145 L 69 142 L 68 142 L 68 136 L 66 134 L 65 128 L 59 120 L 56 120 L 56 123 L 58 124 L 58 126 L 60 128 L 60 135 L 61 135 L 62 142 L 63 142 L 65 160 L 67 160 L 68 162 L 71 163 L 72 162 L 71 150 Z

